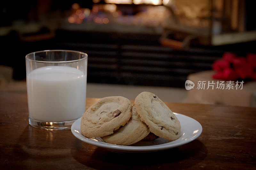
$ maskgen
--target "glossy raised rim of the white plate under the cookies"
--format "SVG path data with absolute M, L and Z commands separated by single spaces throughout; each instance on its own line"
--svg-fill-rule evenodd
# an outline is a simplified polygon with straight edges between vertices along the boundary
M 160 151 L 160 150 L 165 150 L 165 149 L 171 149 L 171 148 L 174 148 L 174 147 L 177 147 L 177 146 L 180 146 L 180 145 L 183 145 L 183 144 L 187 144 L 189 142 L 192 142 L 193 140 L 195 140 L 197 137 L 199 137 L 203 131 L 203 128 L 202 128 L 202 125 L 196 121 L 195 119 L 189 117 L 189 116 L 186 116 L 186 115 L 182 115 L 182 114 L 179 114 L 179 113 L 175 113 L 173 112 L 175 115 L 179 115 L 179 116 L 184 116 L 185 118 L 188 118 L 188 119 L 191 119 L 192 121 L 195 121 L 195 123 L 197 123 L 199 125 L 199 128 L 198 128 L 198 132 L 196 133 L 196 135 L 194 137 L 191 137 L 190 139 L 188 140 L 185 140 L 185 141 L 181 141 L 181 142 L 178 142 L 178 143 L 174 143 L 174 144 L 171 144 L 173 141 L 171 142 L 168 142 L 168 143 L 165 143 L 165 144 L 158 144 L 158 145 L 150 145 L 150 146 L 125 146 L 125 145 L 117 145 L 117 144 L 109 144 L 109 143 L 105 143 L 105 142 L 101 142 L 101 141 L 95 141 L 93 139 L 90 139 L 88 137 L 84 137 L 84 140 L 83 139 L 80 139 L 79 137 L 79 134 L 81 134 L 81 131 L 79 130 L 76 130 L 74 129 L 75 127 L 75 124 L 77 122 L 80 122 L 79 124 L 81 125 L 81 119 L 82 117 L 80 117 L 79 119 L 77 119 L 71 126 L 71 132 L 72 134 L 78 138 L 79 140 L 85 142 L 85 143 L 88 143 L 88 144 L 91 144 L 93 146 L 97 146 L 97 147 L 101 147 L 101 148 L 105 148 L 105 149 L 108 149 L 108 150 L 113 150 L 113 151 L 121 151 L 121 152 L 127 152 L 127 151 L 130 151 L 130 152 L 148 152 L 148 151 Z M 77 132 L 79 132 L 79 134 L 77 134 Z M 175 140 L 174 140 L 175 141 Z

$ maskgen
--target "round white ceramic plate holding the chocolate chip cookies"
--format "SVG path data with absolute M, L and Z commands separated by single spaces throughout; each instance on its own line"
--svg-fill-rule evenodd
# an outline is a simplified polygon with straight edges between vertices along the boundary
M 116 144 L 108 144 L 104 142 L 100 137 L 97 138 L 87 138 L 81 134 L 80 131 L 80 123 L 81 118 L 77 119 L 71 126 L 71 131 L 75 137 L 84 141 L 88 144 L 92 144 L 94 146 L 98 146 L 101 148 L 106 148 L 113 152 L 126 152 L 126 153 L 135 153 L 135 152 L 156 152 L 165 149 L 174 148 L 183 144 L 187 144 L 202 133 L 202 126 L 195 119 L 192 119 L 188 116 L 181 115 L 178 113 L 174 113 L 180 121 L 181 125 L 181 137 L 174 141 L 169 141 L 164 138 L 157 138 L 152 141 L 142 140 L 130 146 L 116 145 Z

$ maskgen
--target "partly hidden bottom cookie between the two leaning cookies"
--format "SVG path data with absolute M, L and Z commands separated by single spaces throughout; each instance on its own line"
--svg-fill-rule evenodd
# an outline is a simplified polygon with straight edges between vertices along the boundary
M 120 129 L 117 129 L 112 135 L 101 137 L 110 144 L 130 145 L 139 142 L 149 134 L 148 126 L 141 122 L 135 106 L 132 107 L 131 119 Z

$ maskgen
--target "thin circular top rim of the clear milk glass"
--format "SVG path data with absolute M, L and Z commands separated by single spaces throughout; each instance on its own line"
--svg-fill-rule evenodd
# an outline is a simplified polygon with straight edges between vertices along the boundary
M 48 52 L 48 51 L 64 51 L 64 52 L 73 52 L 73 53 L 78 53 L 78 54 L 82 54 L 85 55 L 84 58 L 81 59 L 77 59 L 77 60 L 69 60 L 69 61 L 39 61 L 39 60 L 33 60 L 33 59 L 29 59 L 28 56 L 35 54 L 35 53 L 42 53 L 42 52 Z M 36 52 L 32 52 L 29 53 L 25 56 L 25 59 L 28 61 L 34 61 L 34 62 L 38 62 L 38 63 L 71 63 L 71 62 L 77 62 L 77 61 L 81 61 L 84 59 L 87 59 L 88 55 L 86 53 L 83 53 L 81 51 L 74 51 L 74 50 L 62 50 L 62 49 L 54 49 L 54 50 L 43 50 L 43 51 L 36 51 Z

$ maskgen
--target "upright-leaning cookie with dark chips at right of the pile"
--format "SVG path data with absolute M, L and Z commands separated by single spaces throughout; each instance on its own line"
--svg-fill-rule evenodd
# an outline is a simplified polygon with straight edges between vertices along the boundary
M 156 136 L 168 140 L 180 137 L 180 121 L 155 94 L 142 92 L 134 103 L 141 121 L 145 122 Z

